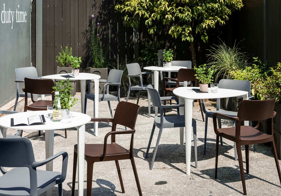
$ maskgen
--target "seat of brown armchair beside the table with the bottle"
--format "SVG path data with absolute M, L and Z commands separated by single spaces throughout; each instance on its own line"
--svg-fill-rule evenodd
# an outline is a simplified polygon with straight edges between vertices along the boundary
M 91 159 L 94 162 L 100 162 L 103 154 L 104 144 L 85 144 L 85 160 Z M 74 151 L 77 153 L 77 144 L 74 145 Z M 116 143 L 109 143 L 106 147 L 106 156 L 103 161 L 122 160 L 130 158 L 130 151 Z

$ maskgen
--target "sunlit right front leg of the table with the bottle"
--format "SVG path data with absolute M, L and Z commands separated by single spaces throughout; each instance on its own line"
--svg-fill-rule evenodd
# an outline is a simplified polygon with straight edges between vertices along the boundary
M 83 196 L 84 156 L 85 156 L 85 125 L 76 127 L 78 137 L 78 195 Z

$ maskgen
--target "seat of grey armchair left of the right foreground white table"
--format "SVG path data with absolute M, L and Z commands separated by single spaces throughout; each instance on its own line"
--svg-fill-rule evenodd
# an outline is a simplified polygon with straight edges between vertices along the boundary
M 160 116 L 156 116 L 154 118 L 154 124 L 156 127 L 160 127 Z M 196 120 L 192 118 L 192 126 L 196 124 Z M 174 127 L 185 127 L 185 119 L 184 115 L 178 116 L 165 116 L 163 122 L 163 128 L 174 128 Z

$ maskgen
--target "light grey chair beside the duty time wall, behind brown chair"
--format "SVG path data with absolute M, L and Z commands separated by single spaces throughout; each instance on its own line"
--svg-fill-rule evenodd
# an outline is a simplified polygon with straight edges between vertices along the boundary
M 25 93 L 22 92 L 19 83 L 24 83 L 24 78 L 41 79 L 40 77 L 38 77 L 35 67 L 21 67 L 21 68 L 16 68 L 15 70 L 16 70 L 16 77 L 17 77 L 17 79 L 15 80 L 15 82 L 17 83 L 17 94 L 16 94 L 14 111 L 16 111 L 18 98 L 25 97 Z M 45 95 L 45 96 L 50 96 L 50 95 Z M 28 97 L 31 97 L 30 93 L 28 93 Z M 38 97 L 40 97 L 40 95 L 33 95 L 33 99 L 35 101 L 37 101 Z

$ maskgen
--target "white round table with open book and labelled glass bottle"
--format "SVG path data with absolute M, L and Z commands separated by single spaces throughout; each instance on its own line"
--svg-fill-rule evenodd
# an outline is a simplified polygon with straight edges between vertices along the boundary
M 30 111 L 6 115 L 0 118 L 0 138 L 6 137 L 7 129 L 20 130 L 45 130 L 46 159 L 54 155 L 54 130 L 75 127 L 78 138 L 78 195 L 83 195 L 84 183 L 84 154 L 85 154 L 85 124 L 91 121 L 91 117 L 78 112 L 72 113 L 72 122 L 53 122 L 51 118 L 45 117 L 46 122 L 39 125 L 14 126 L 11 127 L 11 118 L 28 118 L 32 115 L 47 115 L 47 111 Z M 3 150 L 3 149 L 1 149 Z M 12 156 L 12 155 L 11 155 Z M 46 164 L 47 171 L 53 171 L 53 162 Z M 0 172 L 1 174 L 1 172 Z M 0 175 L 1 176 L 1 175 Z M 52 189 L 47 191 L 47 195 L 52 195 Z

